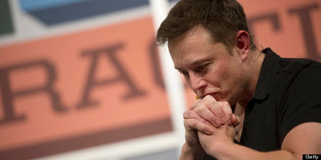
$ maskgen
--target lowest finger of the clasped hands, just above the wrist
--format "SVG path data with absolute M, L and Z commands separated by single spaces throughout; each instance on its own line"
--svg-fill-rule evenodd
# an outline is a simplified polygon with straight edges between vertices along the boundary
M 207 135 L 211 135 L 213 133 L 213 129 L 196 120 L 196 119 L 184 119 L 184 126 L 186 128 L 186 130 L 198 130 L 198 131 L 201 131 L 203 132 L 204 134 L 207 134 Z

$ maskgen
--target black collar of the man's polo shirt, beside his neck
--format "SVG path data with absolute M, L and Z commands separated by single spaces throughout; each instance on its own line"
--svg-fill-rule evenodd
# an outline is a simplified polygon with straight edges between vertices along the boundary
M 280 61 L 280 56 L 270 48 L 265 48 L 262 51 L 265 58 L 262 63 L 257 87 L 253 99 L 265 99 L 271 92 L 277 76 L 277 69 Z

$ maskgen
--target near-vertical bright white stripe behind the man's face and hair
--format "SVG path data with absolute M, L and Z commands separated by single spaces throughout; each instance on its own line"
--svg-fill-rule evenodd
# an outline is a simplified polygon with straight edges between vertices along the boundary
M 162 21 L 166 18 L 169 4 L 167 0 L 149 0 L 154 28 L 157 30 Z M 186 110 L 186 95 L 184 85 L 178 71 L 174 69 L 173 61 L 170 57 L 168 46 L 159 48 L 162 70 L 174 131 L 177 136 L 177 147 L 180 154 L 181 146 L 185 143 L 184 119 L 182 117 Z

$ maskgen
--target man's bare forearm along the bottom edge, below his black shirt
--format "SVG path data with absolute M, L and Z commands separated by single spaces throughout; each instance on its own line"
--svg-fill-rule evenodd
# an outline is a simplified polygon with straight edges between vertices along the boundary
M 302 159 L 302 155 L 295 157 L 293 153 L 286 150 L 259 152 L 234 143 L 218 145 L 216 149 L 207 151 L 207 154 L 217 159 Z

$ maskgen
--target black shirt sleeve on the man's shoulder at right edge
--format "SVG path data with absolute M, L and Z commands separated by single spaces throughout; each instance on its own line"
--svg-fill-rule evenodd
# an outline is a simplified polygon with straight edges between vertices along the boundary
M 279 140 L 295 126 L 321 122 L 321 65 L 310 64 L 295 75 L 284 94 L 279 121 Z

